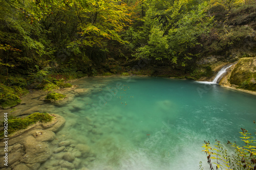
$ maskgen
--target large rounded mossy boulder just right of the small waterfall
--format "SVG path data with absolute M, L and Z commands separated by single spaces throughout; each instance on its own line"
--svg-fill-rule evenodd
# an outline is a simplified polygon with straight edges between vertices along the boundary
M 229 82 L 239 88 L 256 91 L 256 57 L 242 58 L 234 67 Z

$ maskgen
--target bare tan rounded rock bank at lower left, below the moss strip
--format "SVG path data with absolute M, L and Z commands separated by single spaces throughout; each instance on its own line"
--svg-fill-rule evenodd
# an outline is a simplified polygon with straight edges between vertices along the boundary
M 49 142 L 55 139 L 55 133 L 63 124 L 65 119 L 57 114 L 53 114 L 55 119 L 47 125 L 37 125 L 23 133 L 16 133 L 16 136 L 10 136 L 8 140 L 8 168 L 7 169 L 38 169 L 41 163 L 46 162 L 52 155 Z M 51 125 L 52 124 L 52 125 Z M 0 143 L 0 150 L 4 151 L 4 142 Z M 57 152 L 65 149 L 60 147 Z M 3 154 L 0 152 L 0 169 L 6 168 Z M 74 161 L 75 156 L 71 153 L 65 155 L 65 164 L 63 166 L 74 167 L 69 161 Z

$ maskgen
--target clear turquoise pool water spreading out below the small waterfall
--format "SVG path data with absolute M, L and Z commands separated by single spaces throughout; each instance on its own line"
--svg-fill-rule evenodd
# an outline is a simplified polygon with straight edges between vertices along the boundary
M 198 169 L 203 161 L 208 169 L 204 140 L 239 143 L 240 128 L 254 132 L 256 96 L 216 84 L 147 77 L 76 84 L 90 91 L 47 110 L 67 120 L 58 140 L 90 146 L 93 159 L 79 158 L 79 168 Z

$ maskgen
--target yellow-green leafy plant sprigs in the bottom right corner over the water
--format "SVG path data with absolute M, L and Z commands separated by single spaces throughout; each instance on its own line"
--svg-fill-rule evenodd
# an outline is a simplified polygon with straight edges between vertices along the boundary
M 253 139 L 253 136 L 247 130 L 242 128 L 241 130 L 240 138 L 245 143 L 243 147 L 239 147 L 236 143 L 228 141 L 228 144 L 231 144 L 234 149 L 234 154 L 231 154 L 230 150 L 227 150 L 218 140 L 216 140 L 213 146 L 210 145 L 209 141 L 204 141 L 203 152 L 207 155 L 207 163 L 211 170 L 256 168 L 256 140 Z

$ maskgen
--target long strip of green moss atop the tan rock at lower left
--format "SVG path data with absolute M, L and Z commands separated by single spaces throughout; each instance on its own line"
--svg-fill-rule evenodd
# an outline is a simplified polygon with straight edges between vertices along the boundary
M 8 117 L 8 133 L 13 133 L 18 130 L 26 129 L 29 125 L 35 124 L 37 122 L 45 123 L 50 122 L 52 116 L 48 113 L 33 113 L 24 118 Z M 3 136 L 4 132 L 0 132 L 0 136 Z

